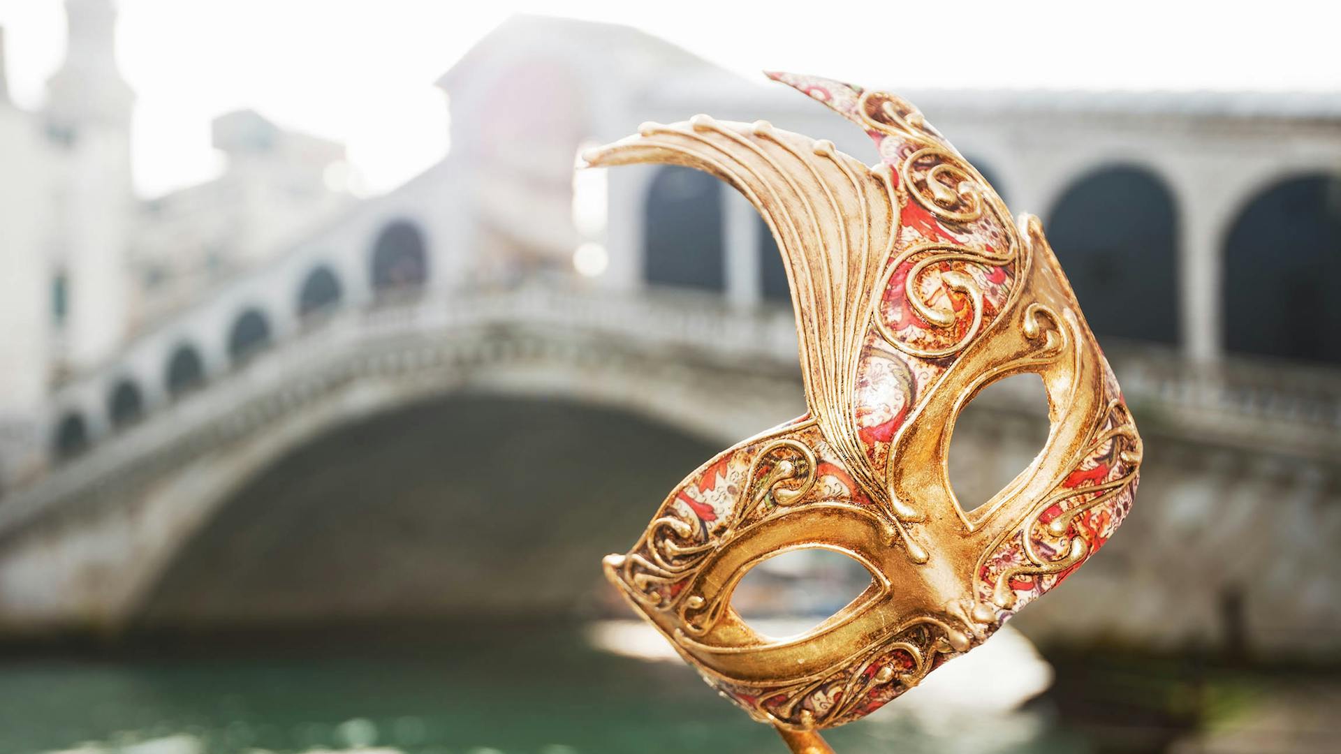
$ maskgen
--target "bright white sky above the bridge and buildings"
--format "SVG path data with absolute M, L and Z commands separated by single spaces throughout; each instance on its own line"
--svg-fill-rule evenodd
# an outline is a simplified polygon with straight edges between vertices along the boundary
M 624 23 L 755 76 L 780 68 L 897 89 L 1341 91 L 1341 3 L 1082 0 L 119 0 L 145 196 L 219 169 L 209 121 L 253 107 L 342 141 L 367 191 L 447 149 L 432 82 L 510 13 Z M 40 106 L 64 51 L 60 0 L 0 0 L 13 99 Z

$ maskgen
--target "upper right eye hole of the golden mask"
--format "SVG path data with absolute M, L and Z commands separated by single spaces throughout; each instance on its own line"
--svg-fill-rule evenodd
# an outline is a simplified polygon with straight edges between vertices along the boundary
M 1047 444 L 1047 392 L 1038 374 L 992 382 L 955 417 L 949 439 L 949 486 L 966 513 L 1006 490 Z

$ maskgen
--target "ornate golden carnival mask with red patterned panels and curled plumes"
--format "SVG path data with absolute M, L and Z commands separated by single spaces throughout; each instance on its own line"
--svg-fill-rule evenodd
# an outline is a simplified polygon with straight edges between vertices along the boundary
M 809 411 L 691 474 L 605 570 L 703 678 L 795 751 L 970 651 L 1059 584 L 1122 521 L 1141 440 L 1037 217 L 1000 197 L 912 105 L 770 74 L 865 129 L 881 164 L 767 122 L 697 115 L 591 150 L 666 162 L 743 193 L 782 250 Z M 966 511 L 945 457 L 983 388 L 1035 373 L 1051 429 L 1034 462 Z M 774 639 L 731 606 L 754 565 L 843 553 L 872 585 Z

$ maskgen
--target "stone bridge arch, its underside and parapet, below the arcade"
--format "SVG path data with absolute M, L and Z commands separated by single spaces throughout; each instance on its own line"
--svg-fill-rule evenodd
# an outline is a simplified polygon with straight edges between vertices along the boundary
M 1043 637 L 1334 647 L 1316 631 L 1341 627 L 1328 374 L 1110 357 L 1152 448 L 1137 511 L 1021 620 Z M 1031 398 L 986 392 L 955 452 L 1008 479 L 1042 443 Z M 782 307 L 530 283 L 325 311 L 8 496 L 0 629 L 570 613 L 670 484 L 801 411 Z

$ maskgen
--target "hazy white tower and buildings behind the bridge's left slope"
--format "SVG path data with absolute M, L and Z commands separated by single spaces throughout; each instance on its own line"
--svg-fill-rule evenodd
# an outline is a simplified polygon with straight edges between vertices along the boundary
M 117 68 L 115 7 L 68 0 L 66 16 L 66 59 L 46 105 L 23 111 L 0 85 L 8 251 L 0 322 L 11 333 L 0 343 L 0 470 L 11 486 L 40 466 L 32 449 L 55 385 L 114 358 L 146 327 L 350 201 L 333 180 L 343 146 L 252 111 L 215 119 L 213 144 L 227 158 L 220 177 L 137 199 L 134 94 Z

